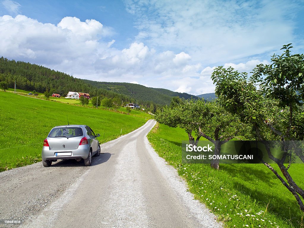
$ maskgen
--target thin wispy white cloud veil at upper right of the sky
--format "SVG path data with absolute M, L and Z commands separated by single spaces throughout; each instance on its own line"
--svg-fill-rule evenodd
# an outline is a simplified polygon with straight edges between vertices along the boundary
M 273 52 L 293 40 L 290 9 L 297 4 L 127 0 L 126 7 L 136 18 L 137 42 L 157 50 L 183 50 L 193 61 L 209 65 Z

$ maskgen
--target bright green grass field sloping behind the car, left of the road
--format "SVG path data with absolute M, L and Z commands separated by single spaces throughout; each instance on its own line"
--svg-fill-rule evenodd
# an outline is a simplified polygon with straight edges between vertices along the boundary
M 43 140 L 54 126 L 85 124 L 100 143 L 142 126 L 150 115 L 126 115 L 0 92 L 0 171 L 41 161 Z

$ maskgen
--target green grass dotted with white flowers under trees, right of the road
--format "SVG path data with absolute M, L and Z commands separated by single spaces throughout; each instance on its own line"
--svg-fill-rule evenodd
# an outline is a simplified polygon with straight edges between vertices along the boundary
M 226 227 L 303 228 L 303 213 L 294 196 L 264 164 L 220 164 L 219 171 L 209 164 L 181 164 L 181 141 L 188 140 L 188 135 L 162 124 L 148 139 L 185 178 L 195 199 L 205 203 Z M 303 170 L 303 164 L 289 169 L 302 188 Z

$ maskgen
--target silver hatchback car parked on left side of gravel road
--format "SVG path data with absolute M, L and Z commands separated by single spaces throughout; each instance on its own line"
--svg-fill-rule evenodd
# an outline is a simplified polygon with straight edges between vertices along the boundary
M 54 127 L 43 142 L 42 164 L 49 167 L 57 159 L 84 159 L 90 166 L 92 156 L 100 155 L 99 134 L 86 125 L 67 125 Z

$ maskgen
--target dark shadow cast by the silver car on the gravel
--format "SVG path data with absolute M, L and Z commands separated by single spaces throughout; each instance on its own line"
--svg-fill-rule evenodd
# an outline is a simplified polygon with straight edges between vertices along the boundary
M 110 159 L 112 154 L 110 153 L 103 153 L 100 154 L 99 157 L 92 157 L 92 164 L 99 165 L 102 164 Z M 76 161 L 75 159 L 69 159 L 69 160 L 58 160 L 56 163 L 53 163 L 52 166 L 54 167 L 81 167 L 85 166 L 85 162 L 83 160 Z

